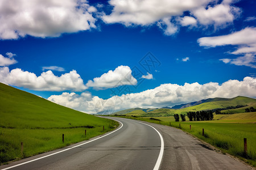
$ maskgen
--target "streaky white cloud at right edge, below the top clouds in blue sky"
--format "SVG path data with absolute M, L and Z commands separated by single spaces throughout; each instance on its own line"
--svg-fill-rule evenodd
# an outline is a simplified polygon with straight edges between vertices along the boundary
M 197 40 L 200 46 L 207 46 L 210 48 L 224 45 L 238 46 L 236 50 L 230 52 L 231 54 L 243 54 L 244 56 L 230 59 L 220 59 L 225 63 L 232 63 L 238 66 L 249 66 L 255 68 L 255 54 L 256 54 L 256 28 L 247 27 L 241 31 L 230 33 L 229 35 L 202 37 Z

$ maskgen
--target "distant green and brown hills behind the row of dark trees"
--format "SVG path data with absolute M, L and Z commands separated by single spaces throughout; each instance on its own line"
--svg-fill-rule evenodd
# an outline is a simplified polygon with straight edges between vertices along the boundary
M 216 109 L 216 108 L 226 108 L 229 106 L 236 106 L 236 105 L 249 105 L 249 107 L 256 106 L 256 99 L 252 99 L 250 97 L 243 97 L 237 96 L 232 99 L 225 99 L 225 98 L 214 98 L 214 99 L 207 99 L 207 102 L 195 105 L 192 107 L 187 107 L 183 109 L 155 109 L 154 111 L 150 111 L 147 113 L 137 114 L 140 117 L 157 117 L 157 116 L 172 116 L 174 114 L 185 114 L 187 112 L 196 112 L 196 111 L 203 111 L 209 109 Z M 247 107 L 245 107 L 247 108 Z M 229 112 L 229 113 L 242 113 L 245 112 L 245 108 L 238 108 L 238 109 L 230 109 L 222 112 Z M 126 115 L 131 115 L 130 113 Z

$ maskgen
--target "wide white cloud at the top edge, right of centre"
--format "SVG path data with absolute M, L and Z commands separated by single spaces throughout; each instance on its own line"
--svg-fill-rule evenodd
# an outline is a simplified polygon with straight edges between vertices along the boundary
M 164 29 L 165 35 L 173 35 L 180 26 L 213 25 L 225 27 L 233 23 L 241 10 L 232 6 L 233 1 L 216 0 L 144 0 L 144 1 L 119 1 L 110 0 L 113 10 L 109 15 L 102 15 L 105 23 L 121 23 L 130 25 L 151 25 L 157 23 Z M 184 16 L 188 12 L 189 16 Z M 179 20 L 179 24 L 175 21 Z

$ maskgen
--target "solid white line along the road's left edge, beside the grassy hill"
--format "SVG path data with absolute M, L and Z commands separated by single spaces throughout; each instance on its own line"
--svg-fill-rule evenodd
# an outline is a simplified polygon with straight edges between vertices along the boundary
M 118 121 L 118 120 L 115 120 L 115 121 Z M 82 144 L 77 145 L 77 146 L 73 146 L 73 147 L 71 147 L 71 148 L 67 148 L 67 149 L 62 150 L 62 151 L 59 151 L 59 152 L 55 152 L 55 153 L 50 154 L 50 155 L 46 155 L 46 156 L 43 156 L 43 157 L 40 157 L 40 158 L 36 158 L 36 159 L 30 160 L 30 161 L 28 161 L 28 162 L 24 162 L 24 163 L 20 163 L 20 164 L 17 164 L 17 165 L 13 165 L 13 166 L 11 166 L 11 167 L 7 167 L 7 168 L 5 168 L 5 169 L 1 169 L 1 170 L 6 170 L 6 169 L 11 169 L 11 168 L 19 167 L 20 165 L 24 165 L 24 164 L 27 164 L 27 163 L 31 163 L 31 162 L 34 162 L 34 161 L 39 160 L 39 159 L 47 158 L 47 157 L 49 157 L 49 156 L 56 155 L 56 154 L 59 154 L 59 153 L 64 152 L 64 151 L 68 151 L 68 150 L 71 150 L 72 148 L 76 148 L 76 147 L 79 147 L 79 146 L 85 145 L 85 144 L 87 144 L 87 143 L 90 143 L 90 142 L 96 141 L 96 140 L 98 140 L 98 139 L 100 139 L 100 138 L 106 137 L 106 136 L 108 136 L 108 135 L 110 135 L 110 134 L 114 133 L 115 131 L 117 131 L 117 130 L 119 130 L 119 129 L 121 129 L 121 128 L 123 127 L 122 122 L 120 122 L 120 121 L 118 121 L 118 122 L 119 122 L 119 123 L 121 123 L 121 127 L 120 127 L 120 128 L 118 128 L 118 129 L 116 129 L 116 130 L 112 131 L 111 133 L 108 133 L 108 134 L 106 134 L 106 135 L 104 135 L 104 136 L 102 136 L 102 137 L 99 137 L 99 138 L 93 139 L 92 141 L 88 141 L 88 142 L 82 143 Z

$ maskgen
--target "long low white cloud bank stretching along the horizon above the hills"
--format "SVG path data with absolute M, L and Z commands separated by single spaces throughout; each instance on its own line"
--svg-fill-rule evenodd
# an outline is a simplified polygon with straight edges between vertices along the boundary
M 77 95 L 75 93 L 63 93 L 53 95 L 48 98 L 55 103 L 84 111 L 86 113 L 96 113 L 99 111 L 118 111 L 127 108 L 160 108 L 173 106 L 175 104 L 188 103 L 209 97 L 236 97 L 236 96 L 256 96 L 256 79 L 245 77 L 243 80 L 228 80 L 222 84 L 209 82 L 205 84 L 185 83 L 161 84 L 151 90 L 142 91 L 135 94 L 113 96 L 109 99 L 101 99 L 98 96 Z M 114 109 L 113 109 L 114 108 Z

